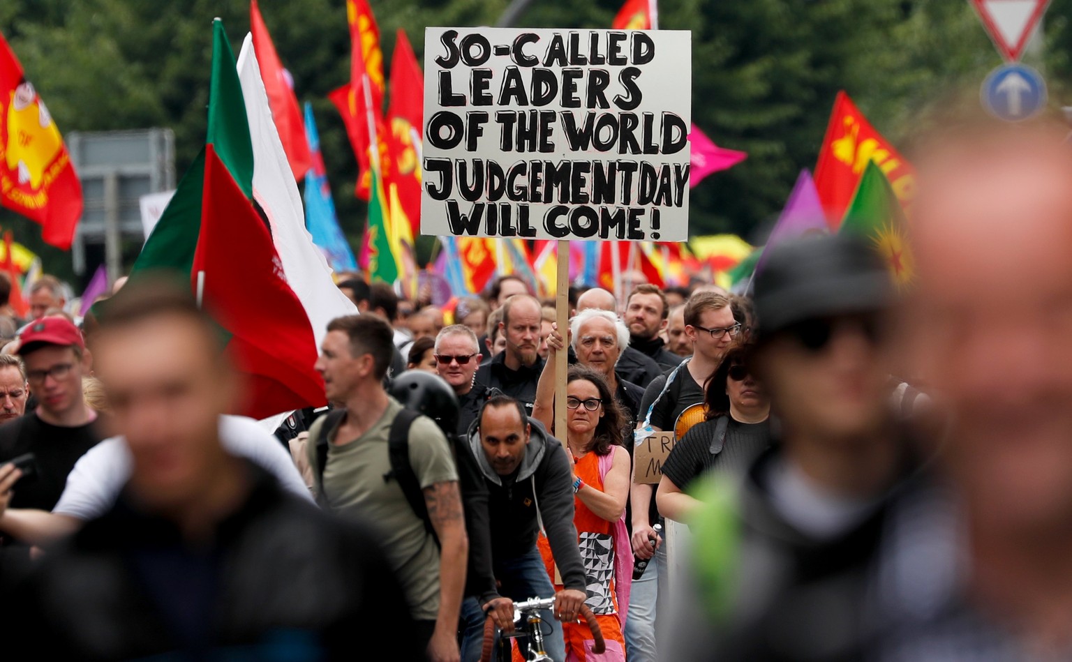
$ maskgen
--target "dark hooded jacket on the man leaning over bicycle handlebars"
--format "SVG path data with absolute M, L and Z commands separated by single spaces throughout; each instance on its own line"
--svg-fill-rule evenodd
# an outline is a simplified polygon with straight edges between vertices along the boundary
M 470 428 L 468 448 L 488 484 L 493 565 L 531 552 L 542 522 L 563 585 L 585 591 L 587 580 L 574 526 L 569 458 L 562 443 L 538 421 L 528 422 L 532 425 L 528 448 L 513 477 L 495 472 L 480 446 L 476 424 Z

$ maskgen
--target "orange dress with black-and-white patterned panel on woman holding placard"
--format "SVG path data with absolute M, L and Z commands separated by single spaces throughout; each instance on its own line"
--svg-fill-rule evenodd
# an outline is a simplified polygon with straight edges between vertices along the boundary
M 615 449 L 613 452 L 626 452 Z M 602 477 L 599 476 L 599 456 L 587 453 L 577 461 L 574 471 L 584 483 L 600 492 L 604 488 Z M 574 497 L 574 525 L 577 527 L 578 544 L 581 547 L 581 558 L 584 560 L 584 572 L 587 575 L 589 598 L 584 601 L 596 615 L 599 629 L 607 643 L 607 650 L 601 655 L 592 652 L 592 631 L 581 619 L 578 622 L 563 623 L 563 634 L 566 637 L 566 660 L 578 662 L 624 661 L 625 636 L 619 620 L 617 590 L 614 580 L 614 563 L 616 554 L 630 555 L 631 550 L 614 548 L 614 523 L 608 522 L 589 510 L 579 496 Z M 555 591 L 562 590 L 561 577 L 556 576 L 554 558 L 551 556 L 551 545 L 542 535 L 538 541 L 544 565 L 547 567 Z

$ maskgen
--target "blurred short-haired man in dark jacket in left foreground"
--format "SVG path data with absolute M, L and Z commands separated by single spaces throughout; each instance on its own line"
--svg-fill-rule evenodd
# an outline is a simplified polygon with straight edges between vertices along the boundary
M 228 454 L 236 376 L 188 291 L 129 285 L 98 337 L 133 471 L 119 501 L 4 592 L 5 657 L 421 659 L 374 535 Z M 10 479 L 0 469 L 0 487 Z

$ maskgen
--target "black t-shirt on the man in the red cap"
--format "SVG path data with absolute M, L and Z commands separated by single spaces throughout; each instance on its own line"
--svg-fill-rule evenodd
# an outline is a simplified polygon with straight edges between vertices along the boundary
M 33 453 L 36 458 L 36 477 L 15 485 L 10 507 L 51 510 L 63 494 L 74 463 L 101 439 L 95 421 L 62 427 L 28 413 L 0 425 L 0 464 L 24 453 Z

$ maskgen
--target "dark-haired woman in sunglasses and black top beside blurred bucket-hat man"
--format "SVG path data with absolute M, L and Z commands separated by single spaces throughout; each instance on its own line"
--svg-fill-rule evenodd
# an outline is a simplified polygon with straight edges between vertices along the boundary
M 733 347 L 706 383 L 706 421 L 694 425 L 662 463 L 659 513 L 688 522 L 699 501 L 689 484 L 708 471 L 740 475 L 770 446 L 771 398 L 753 376 L 749 346 Z

